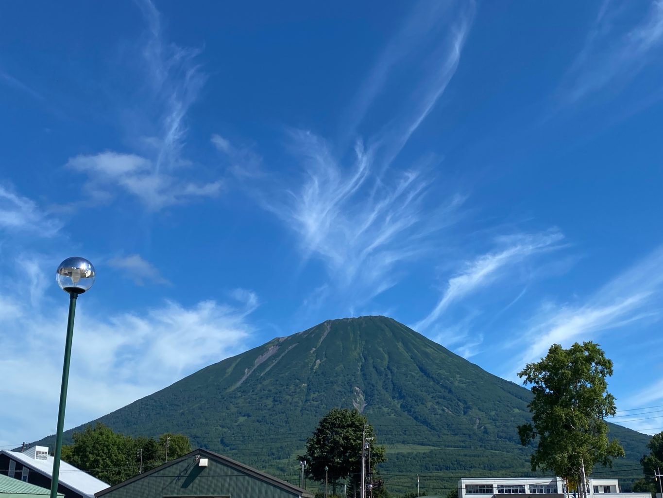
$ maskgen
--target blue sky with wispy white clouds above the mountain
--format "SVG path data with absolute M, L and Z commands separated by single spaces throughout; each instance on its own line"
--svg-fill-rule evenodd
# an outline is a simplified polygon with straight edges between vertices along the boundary
M 67 427 L 385 314 L 512 380 L 597 341 L 663 428 L 660 0 L 14 2 L 0 43 L 0 446 L 55 430 L 72 255 Z

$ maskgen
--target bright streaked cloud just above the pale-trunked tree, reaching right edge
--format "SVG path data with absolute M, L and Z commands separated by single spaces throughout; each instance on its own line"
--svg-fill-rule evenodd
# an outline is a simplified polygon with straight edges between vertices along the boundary
M 542 357 L 550 345 L 589 341 L 601 333 L 644 320 L 658 320 L 663 311 L 663 247 L 659 247 L 582 305 L 548 305 L 532 317 L 532 325 L 516 339 L 524 352 L 516 369 Z M 663 397 L 663 396 L 662 396 Z

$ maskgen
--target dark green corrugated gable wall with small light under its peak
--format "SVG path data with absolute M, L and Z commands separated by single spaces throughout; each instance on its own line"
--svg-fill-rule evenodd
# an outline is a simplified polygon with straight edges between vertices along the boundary
M 298 495 L 211 458 L 208 467 L 199 467 L 192 456 L 106 493 L 103 498 L 195 496 L 293 498 Z

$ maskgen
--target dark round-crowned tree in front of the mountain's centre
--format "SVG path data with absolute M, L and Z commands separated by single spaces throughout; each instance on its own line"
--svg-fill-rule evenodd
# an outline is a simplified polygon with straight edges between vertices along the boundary
M 338 481 L 353 477 L 353 484 L 359 483 L 361 469 L 362 434 L 365 430 L 367 461 L 370 454 L 371 469 L 385 461 L 385 448 L 377 446 L 373 426 L 357 410 L 332 408 L 320 419 L 316 430 L 306 440 L 306 454 L 300 459 L 306 461 L 308 477 L 316 481 L 325 480 L 325 467 L 328 479 L 335 493 Z

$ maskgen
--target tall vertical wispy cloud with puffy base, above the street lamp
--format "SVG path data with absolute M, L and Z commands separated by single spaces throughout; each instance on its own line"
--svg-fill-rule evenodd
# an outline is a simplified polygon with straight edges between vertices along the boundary
M 141 135 L 140 151 L 105 151 L 70 158 L 66 167 L 88 175 L 93 193 L 112 187 L 135 196 L 147 208 L 159 210 L 221 191 L 221 181 L 191 181 L 192 165 L 184 155 L 186 115 L 206 81 L 196 57 L 200 50 L 164 41 L 160 13 L 150 0 L 137 2 L 147 23 L 141 50 L 147 92 L 133 106 L 131 134 Z M 135 119 L 133 119 L 135 117 Z M 147 124 L 133 129 L 135 123 Z

